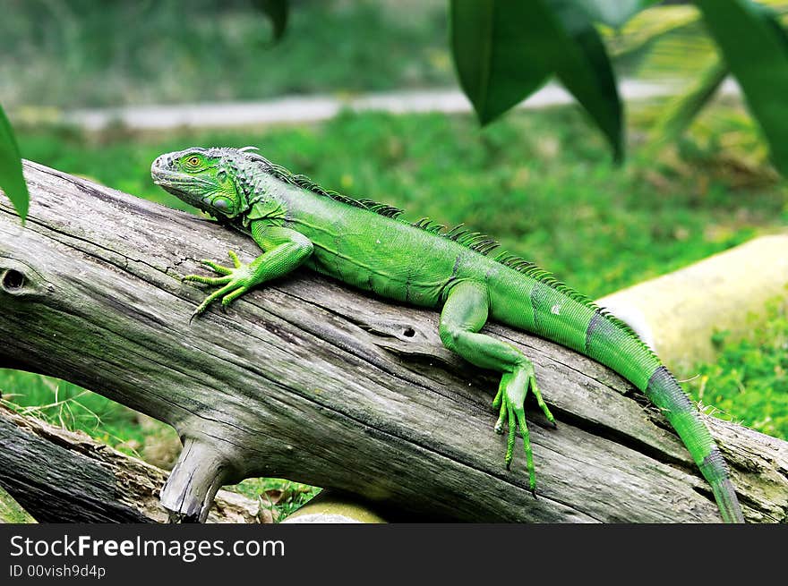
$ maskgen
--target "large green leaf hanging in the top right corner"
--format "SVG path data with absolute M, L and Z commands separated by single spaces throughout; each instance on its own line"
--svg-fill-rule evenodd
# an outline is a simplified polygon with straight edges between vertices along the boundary
M 749 0 L 695 0 L 764 132 L 772 161 L 788 173 L 788 47 L 779 24 Z

